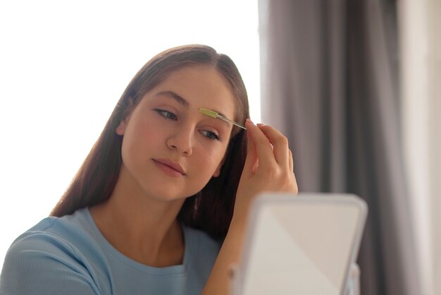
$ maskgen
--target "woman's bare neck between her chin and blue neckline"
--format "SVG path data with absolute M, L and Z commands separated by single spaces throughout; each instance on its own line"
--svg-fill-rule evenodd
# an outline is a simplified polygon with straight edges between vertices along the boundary
M 184 238 L 176 217 L 185 200 L 159 201 L 116 185 L 90 208 L 101 234 L 120 253 L 153 267 L 182 264 Z

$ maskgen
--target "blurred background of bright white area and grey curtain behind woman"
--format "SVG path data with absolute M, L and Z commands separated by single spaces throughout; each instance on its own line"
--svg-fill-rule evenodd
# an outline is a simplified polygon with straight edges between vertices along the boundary
M 154 54 L 209 44 L 300 191 L 369 205 L 362 295 L 441 294 L 441 1 L 1 1 L 0 263 L 46 217 Z

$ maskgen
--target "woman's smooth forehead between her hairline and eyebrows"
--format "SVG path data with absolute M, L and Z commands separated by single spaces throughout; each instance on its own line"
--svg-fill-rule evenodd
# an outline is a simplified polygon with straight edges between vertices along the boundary
M 236 99 L 230 85 L 211 66 L 187 66 L 173 71 L 149 93 L 161 91 L 177 93 L 190 107 L 215 109 L 230 118 L 235 115 Z

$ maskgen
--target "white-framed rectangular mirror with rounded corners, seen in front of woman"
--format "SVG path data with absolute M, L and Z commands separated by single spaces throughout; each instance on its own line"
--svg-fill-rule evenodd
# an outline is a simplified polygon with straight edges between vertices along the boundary
M 266 193 L 250 214 L 232 294 L 344 294 L 366 221 L 361 198 Z

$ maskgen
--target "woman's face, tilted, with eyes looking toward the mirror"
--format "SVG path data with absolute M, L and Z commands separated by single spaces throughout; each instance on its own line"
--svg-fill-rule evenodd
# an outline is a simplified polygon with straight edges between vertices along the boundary
M 218 176 L 232 125 L 201 114 L 201 107 L 234 118 L 228 82 L 208 66 L 181 68 L 147 92 L 116 129 L 123 135 L 118 184 L 149 198 L 176 200 Z

